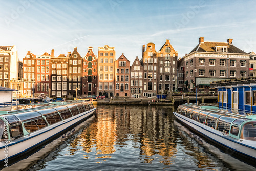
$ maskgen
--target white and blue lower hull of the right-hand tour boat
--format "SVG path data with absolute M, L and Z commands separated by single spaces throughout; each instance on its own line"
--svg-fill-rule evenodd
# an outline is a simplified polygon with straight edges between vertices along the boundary
M 247 159 L 249 163 L 256 160 L 256 145 L 247 140 L 235 139 L 229 137 L 227 134 L 219 132 L 211 127 L 208 127 L 202 123 L 199 123 L 193 119 L 187 118 L 177 112 L 173 112 L 178 120 L 187 125 L 191 130 L 199 133 L 211 142 L 220 145 L 226 149 L 226 152 L 230 155 L 239 155 L 239 158 L 243 160 Z M 254 141 L 255 142 L 255 141 Z M 227 151 L 230 149 L 231 151 Z

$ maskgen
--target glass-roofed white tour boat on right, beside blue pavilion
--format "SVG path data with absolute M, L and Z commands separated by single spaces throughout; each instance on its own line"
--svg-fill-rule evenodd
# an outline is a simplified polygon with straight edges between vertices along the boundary
M 256 160 L 256 115 L 239 115 L 218 108 L 179 105 L 177 119 L 206 139 L 231 149 L 246 161 Z M 237 155 L 237 156 L 238 156 Z

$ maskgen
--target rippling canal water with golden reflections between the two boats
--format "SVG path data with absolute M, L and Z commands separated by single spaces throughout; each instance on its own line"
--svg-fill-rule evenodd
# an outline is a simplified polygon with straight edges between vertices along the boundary
M 95 116 L 8 170 L 256 170 L 188 130 L 173 110 L 97 106 Z

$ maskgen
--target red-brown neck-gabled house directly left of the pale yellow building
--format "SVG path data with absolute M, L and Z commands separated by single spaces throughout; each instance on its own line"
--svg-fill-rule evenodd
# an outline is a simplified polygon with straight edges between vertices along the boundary
M 93 53 L 93 47 L 88 47 L 83 58 L 82 92 L 83 96 L 97 94 L 98 57 Z

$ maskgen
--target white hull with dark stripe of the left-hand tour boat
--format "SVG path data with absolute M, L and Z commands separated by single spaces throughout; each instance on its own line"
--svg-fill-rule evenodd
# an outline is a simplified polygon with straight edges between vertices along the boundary
M 4 145 L 1 145 L 0 147 L 0 161 L 8 161 L 24 155 L 24 153 L 32 151 L 33 149 L 46 143 L 63 131 L 70 129 L 78 122 L 90 117 L 91 115 L 93 115 L 93 112 L 95 110 L 96 108 L 93 108 L 90 111 L 80 113 L 74 117 L 44 127 L 43 129 L 35 131 L 30 135 L 14 140 L 9 144 L 2 142 L 1 144 Z

